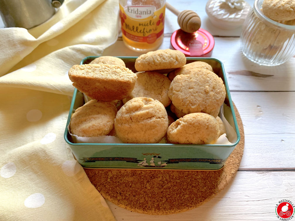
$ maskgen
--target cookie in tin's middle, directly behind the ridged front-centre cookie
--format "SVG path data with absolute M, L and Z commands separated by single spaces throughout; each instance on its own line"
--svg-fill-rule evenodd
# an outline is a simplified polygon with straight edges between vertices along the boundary
M 171 81 L 163 74 L 155 71 L 137 72 L 137 80 L 131 94 L 123 99 L 123 103 L 136 97 L 153 98 L 167 107 L 171 100 L 168 90 Z

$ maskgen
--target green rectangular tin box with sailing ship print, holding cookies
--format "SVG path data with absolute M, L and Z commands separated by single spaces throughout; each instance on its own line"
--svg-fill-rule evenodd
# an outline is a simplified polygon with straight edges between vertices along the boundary
M 97 56 L 85 57 L 82 64 L 89 64 Z M 137 57 L 119 57 L 126 67 L 136 72 L 134 64 Z M 222 78 L 226 98 L 224 116 L 232 126 L 236 138 L 231 144 L 97 144 L 74 143 L 68 131 L 72 114 L 84 102 L 83 94 L 74 90 L 73 99 L 65 127 L 64 138 L 78 162 L 86 168 L 107 169 L 183 169 L 218 170 L 221 169 L 235 146 L 240 141 L 240 133 L 230 97 L 222 62 L 214 58 L 187 57 L 187 63 L 204 61 L 212 66 L 214 73 Z

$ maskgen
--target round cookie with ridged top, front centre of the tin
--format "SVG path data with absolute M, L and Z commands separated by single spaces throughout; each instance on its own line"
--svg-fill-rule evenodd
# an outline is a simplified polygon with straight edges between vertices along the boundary
M 137 97 L 118 111 L 114 126 L 124 143 L 158 143 L 167 131 L 168 115 L 160 101 Z

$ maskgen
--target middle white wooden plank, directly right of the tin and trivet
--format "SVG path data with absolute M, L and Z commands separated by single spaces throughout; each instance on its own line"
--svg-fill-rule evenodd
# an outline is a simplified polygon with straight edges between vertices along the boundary
M 245 131 L 240 169 L 295 168 L 295 92 L 231 92 Z

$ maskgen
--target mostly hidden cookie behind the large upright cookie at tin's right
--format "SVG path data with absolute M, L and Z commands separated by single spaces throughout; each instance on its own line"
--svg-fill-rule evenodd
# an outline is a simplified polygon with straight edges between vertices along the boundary
M 167 77 L 169 78 L 169 80 L 173 80 L 173 78 L 177 75 L 187 75 L 189 74 L 191 69 L 195 69 L 195 68 L 203 68 L 203 69 L 207 69 L 209 71 L 213 71 L 211 65 L 209 65 L 206 62 L 203 61 L 195 61 L 195 62 L 191 62 L 189 64 L 184 65 L 183 67 L 177 68 L 176 70 L 170 72 Z

